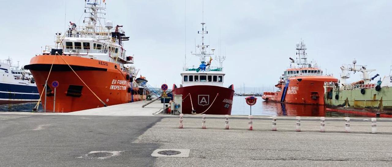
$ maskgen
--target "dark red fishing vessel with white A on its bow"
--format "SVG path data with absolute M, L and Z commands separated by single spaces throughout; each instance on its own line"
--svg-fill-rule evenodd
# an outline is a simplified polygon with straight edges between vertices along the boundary
M 183 114 L 223 114 L 230 115 L 234 95 L 234 87 L 223 87 L 225 73 L 222 63 L 225 56 L 215 56 L 219 66 L 212 67 L 212 55 L 215 49 L 209 52 L 209 45 L 204 44 L 205 23 L 201 23 L 201 44 L 196 45 L 198 51 L 192 55 L 200 57 L 200 65 L 187 67 L 186 64 L 181 73 L 182 82 L 180 87 L 173 85 L 173 94 L 182 95 Z M 208 58 L 208 62 L 206 62 Z

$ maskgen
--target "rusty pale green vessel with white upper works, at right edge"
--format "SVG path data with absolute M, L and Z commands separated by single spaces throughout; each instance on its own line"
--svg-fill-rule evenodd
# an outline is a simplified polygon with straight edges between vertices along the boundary
M 325 105 L 328 110 L 352 110 L 364 112 L 392 113 L 392 74 L 375 80 L 379 75 L 370 77 L 375 69 L 365 65 L 343 64 L 338 83 L 325 82 Z M 391 69 L 392 71 L 392 69 Z M 361 80 L 347 83 L 351 73 L 362 73 Z

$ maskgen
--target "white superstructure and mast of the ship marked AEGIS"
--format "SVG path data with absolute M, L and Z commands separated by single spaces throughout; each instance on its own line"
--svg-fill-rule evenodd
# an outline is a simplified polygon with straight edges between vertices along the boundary
M 136 76 L 138 70 L 131 66 L 134 57 L 127 56 L 123 48 L 123 41 L 128 41 L 129 37 L 125 36 L 122 25 L 114 26 L 112 21 L 105 20 L 105 9 L 104 1 L 86 1 L 83 25 L 69 21 L 65 33 L 57 32 L 55 45 L 45 46 L 43 55 L 54 55 L 54 49 L 63 55 L 114 62 L 120 64 L 123 71 Z

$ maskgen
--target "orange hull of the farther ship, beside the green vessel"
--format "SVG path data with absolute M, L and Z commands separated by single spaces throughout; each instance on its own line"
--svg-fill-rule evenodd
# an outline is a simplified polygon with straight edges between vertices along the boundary
M 282 84 L 280 87 L 282 91 L 265 92 L 266 95 L 262 98 L 272 102 L 324 105 L 324 83 L 338 82 L 338 79 L 332 76 L 295 76 L 288 80 L 289 84 L 286 89 L 286 85 Z

